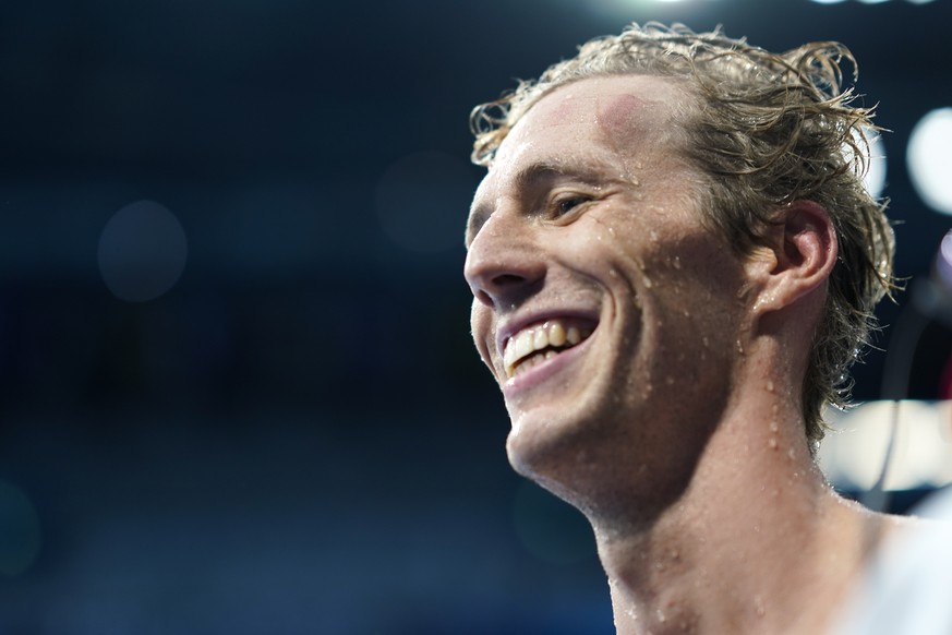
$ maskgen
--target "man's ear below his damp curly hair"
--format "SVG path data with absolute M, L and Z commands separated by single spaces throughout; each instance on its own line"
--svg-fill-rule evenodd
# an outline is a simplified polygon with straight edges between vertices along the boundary
M 823 286 L 836 264 L 836 230 L 812 201 L 780 208 L 747 264 L 756 315 L 779 311 Z

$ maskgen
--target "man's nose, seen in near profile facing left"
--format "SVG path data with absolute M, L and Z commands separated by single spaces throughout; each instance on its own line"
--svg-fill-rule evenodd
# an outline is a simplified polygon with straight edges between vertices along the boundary
M 532 228 L 493 216 L 477 233 L 463 275 L 475 299 L 498 309 L 525 299 L 545 278 L 545 260 Z

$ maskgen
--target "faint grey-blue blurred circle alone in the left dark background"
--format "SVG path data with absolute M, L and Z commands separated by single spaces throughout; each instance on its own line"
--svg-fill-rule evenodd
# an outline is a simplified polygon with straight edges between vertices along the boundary
M 99 237 L 99 272 L 112 293 L 128 302 L 154 300 L 171 289 L 188 257 L 178 218 L 154 201 L 116 213 Z

